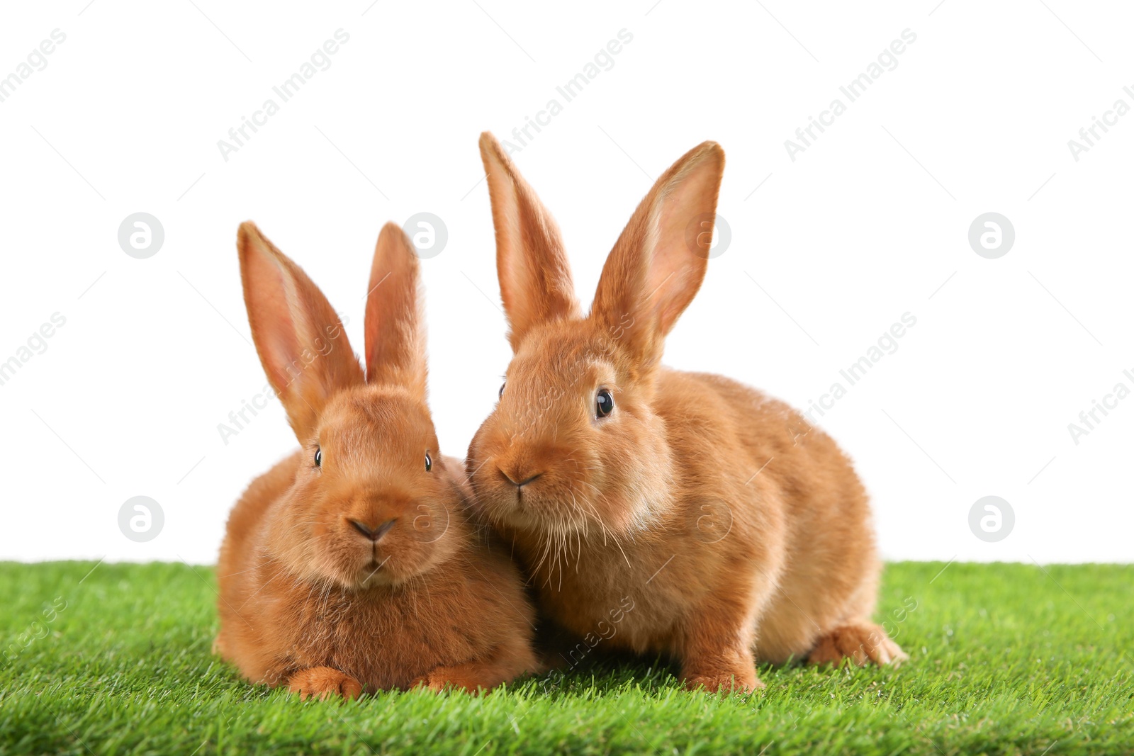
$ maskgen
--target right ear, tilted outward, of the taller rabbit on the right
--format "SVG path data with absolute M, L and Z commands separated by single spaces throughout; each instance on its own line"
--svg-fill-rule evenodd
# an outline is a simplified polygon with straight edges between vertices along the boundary
M 644 363 L 701 288 L 709 262 L 725 151 L 704 142 L 670 165 L 638 204 L 607 257 L 591 316 Z

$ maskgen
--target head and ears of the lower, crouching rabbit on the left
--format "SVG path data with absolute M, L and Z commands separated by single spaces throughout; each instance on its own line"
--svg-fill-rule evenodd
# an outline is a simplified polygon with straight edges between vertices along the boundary
M 462 472 L 446 468 L 425 404 L 418 261 L 408 239 L 395 223 L 378 239 L 365 375 L 303 270 L 251 222 L 238 247 L 256 351 L 302 448 L 290 489 L 268 515 L 262 559 L 356 589 L 429 571 L 467 530 Z

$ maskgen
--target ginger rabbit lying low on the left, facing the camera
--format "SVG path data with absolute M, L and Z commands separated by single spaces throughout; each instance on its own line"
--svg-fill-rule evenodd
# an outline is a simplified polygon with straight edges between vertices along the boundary
M 366 295 L 365 377 L 322 291 L 251 222 L 244 300 L 299 450 L 228 519 L 214 649 L 302 697 L 452 686 L 534 671 L 534 610 L 507 552 L 468 518 L 463 462 L 425 404 L 418 261 L 395 223 Z

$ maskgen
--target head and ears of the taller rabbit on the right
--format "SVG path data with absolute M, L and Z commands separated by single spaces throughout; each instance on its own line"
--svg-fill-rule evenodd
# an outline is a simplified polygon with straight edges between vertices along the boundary
M 555 221 L 491 134 L 480 146 L 514 356 L 469 447 L 477 506 L 560 540 L 640 530 L 667 511 L 672 451 L 652 399 L 665 337 L 704 277 L 723 151 L 705 142 L 658 179 L 584 316 Z

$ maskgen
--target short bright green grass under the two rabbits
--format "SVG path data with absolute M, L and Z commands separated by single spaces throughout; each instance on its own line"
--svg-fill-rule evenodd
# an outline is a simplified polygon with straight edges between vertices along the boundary
M 481 697 L 349 704 L 213 657 L 211 569 L 93 567 L 0 563 L 0 754 L 1134 751 L 1131 566 L 890 564 L 879 617 L 905 666 L 764 668 L 752 696 L 606 660 Z

